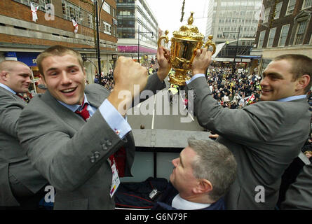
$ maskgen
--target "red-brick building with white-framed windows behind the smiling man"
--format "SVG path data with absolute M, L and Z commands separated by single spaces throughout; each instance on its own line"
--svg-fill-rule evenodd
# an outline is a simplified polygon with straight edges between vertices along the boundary
M 116 0 L 105 0 L 103 4 L 100 0 L 98 4 L 102 5 L 101 69 L 106 74 L 114 69 L 118 53 Z M 1 0 L 0 61 L 17 59 L 30 66 L 35 90 L 39 78 L 37 55 L 51 45 L 65 45 L 85 56 L 87 80 L 93 83 L 97 71 L 94 8 L 93 0 Z

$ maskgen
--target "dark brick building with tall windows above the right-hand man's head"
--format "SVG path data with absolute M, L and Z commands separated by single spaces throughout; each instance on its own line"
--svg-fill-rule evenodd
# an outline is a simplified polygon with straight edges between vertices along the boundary
M 312 0 L 264 0 L 263 5 L 264 17 L 251 52 L 261 56 L 259 73 L 278 55 L 312 57 Z

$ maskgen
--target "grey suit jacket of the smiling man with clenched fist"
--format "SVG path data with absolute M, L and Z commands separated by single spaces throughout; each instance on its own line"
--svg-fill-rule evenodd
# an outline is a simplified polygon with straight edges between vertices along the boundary
M 163 87 L 158 76 L 149 78 L 147 88 L 156 92 Z M 110 92 L 91 84 L 85 93 L 88 102 L 98 108 Z M 132 132 L 120 139 L 99 110 L 86 123 L 47 91 L 22 111 L 18 136 L 34 167 L 55 187 L 54 209 L 114 209 L 107 158 L 121 146 L 126 148 L 125 176 L 131 175 L 135 154 Z

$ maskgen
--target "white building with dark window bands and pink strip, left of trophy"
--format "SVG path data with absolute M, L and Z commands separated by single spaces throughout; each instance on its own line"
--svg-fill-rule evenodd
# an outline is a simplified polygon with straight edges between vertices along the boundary
M 156 55 L 158 22 L 144 0 L 117 0 L 118 54 L 138 58 Z

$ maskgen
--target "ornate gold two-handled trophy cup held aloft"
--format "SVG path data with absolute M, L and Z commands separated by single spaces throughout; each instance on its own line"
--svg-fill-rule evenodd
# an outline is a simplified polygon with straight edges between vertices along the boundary
M 189 20 L 187 20 L 188 25 L 180 27 L 179 31 L 173 32 L 173 37 L 171 38 L 171 48 L 170 48 L 170 58 L 169 62 L 173 69 L 175 69 L 175 74 L 170 74 L 169 82 L 175 85 L 185 85 L 185 81 L 191 79 L 187 75 L 191 70 L 191 63 L 194 60 L 196 50 L 203 47 L 203 34 L 198 31 L 197 27 L 192 24 L 194 22 L 193 18 L 194 12 L 191 12 Z M 165 36 L 161 36 L 158 39 L 158 47 L 161 46 L 161 41 L 164 40 L 165 43 L 169 42 L 168 38 L 169 31 L 165 31 Z M 216 45 L 212 42 L 213 36 L 208 36 L 208 41 L 205 43 L 205 48 L 212 46 L 212 55 L 215 53 Z M 167 57 L 168 55 L 165 55 Z

